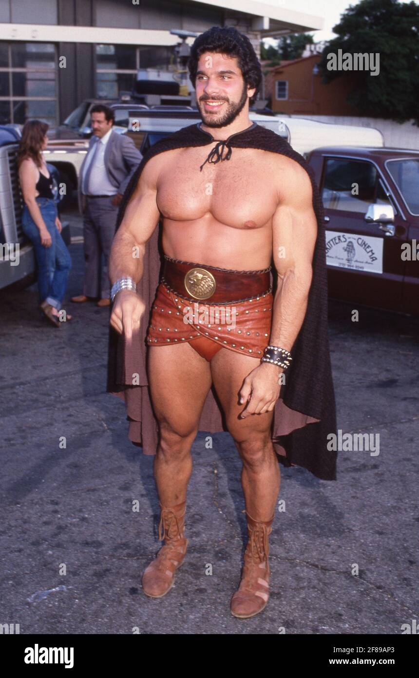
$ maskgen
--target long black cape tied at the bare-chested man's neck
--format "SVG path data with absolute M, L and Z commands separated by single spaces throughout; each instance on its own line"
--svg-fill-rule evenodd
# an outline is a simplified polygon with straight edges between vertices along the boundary
M 292 347 L 292 363 L 286 371 L 286 384 L 282 384 L 280 397 L 275 404 L 271 438 L 278 460 L 285 466 L 303 466 L 318 478 L 336 480 L 336 452 L 328 449 L 328 436 L 336 435 L 336 406 L 330 365 L 328 339 L 328 285 L 326 269 L 326 243 L 324 210 L 315 183 L 313 170 L 305 159 L 296 153 L 286 140 L 275 132 L 253 123 L 251 127 L 231 135 L 227 142 L 216 144 L 208 132 L 200 129 L 200 123 L 183 127 L 151 146 L 134 172 L 120 203 L 116 228 L 123 220 L 127 203 L 137 185 L 144 165 L 158 153 L 175 148 L 209 146 L 202 149 L 202 165 L 205 161 L 227 160 L 234 148 L 259 148 L 271 153 L 281 153 L 298 162 L 311 179 L 313 186 L 313 209 L 317 217 L 317 241 L 313 254 L 313 279 L 309 291 L 307 311 L 301 330 Z M 208 155 L 208 151 L 211 151 Z M 202 166 L 201 165 L 201 166 Z M 200 167 L 196 168 L 200 172 Z M 251 168 L 244 168 L 251 172 Z M 139 216 L 141 218 L 141 216 Z M 144 275 L 137 285 L 137 292 L 146 304 L 141 327 L 133 345 L 128 350 L 123 336 L 110 327 L 108 349 L 108 378 L 106 391 L 122 398 L 127 407 L 129 439 L 143 447 L 144 454 L 156 454 L 158 424 L 152 410 L 148 378 L 146 374 L 146 331 L 156 287 L 162 267 L 160 245 L 161 223 L 146 245 Z M 205 262 L 196 262 L 205 264 Z M 273 293 L 276 290 L 275 267 L 271 271 Z M 135 385 L 133 385 L 135 374 Z M 223 412 L 213 387 L 208 393 L 199 424 L 200 431 L 217 433 L 227 431 Z

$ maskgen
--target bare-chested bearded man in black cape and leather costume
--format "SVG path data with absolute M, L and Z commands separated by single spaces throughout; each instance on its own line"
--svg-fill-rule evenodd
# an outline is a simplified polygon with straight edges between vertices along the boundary
M 189 69 L 202 123 L 154 144 L 120 205 L 107 388 L 156 454 L 164 546 L 142 578 L 150 597 L 185 559 L 196 433 L 231 433 L 248 524 L 231 613 L 246 618 L 269 598 L 278 460 L 336 479 L 323 212 L 305 160 L 250 123 L 261 67 L 248 38 L 211 28 Z

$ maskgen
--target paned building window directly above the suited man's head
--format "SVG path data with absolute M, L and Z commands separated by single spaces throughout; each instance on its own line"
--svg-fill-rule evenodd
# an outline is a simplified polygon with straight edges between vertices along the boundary
M 96 96 L 118 99 L 122 90 L 131 92 L 139 68 L 136 45 L 95 45 Z

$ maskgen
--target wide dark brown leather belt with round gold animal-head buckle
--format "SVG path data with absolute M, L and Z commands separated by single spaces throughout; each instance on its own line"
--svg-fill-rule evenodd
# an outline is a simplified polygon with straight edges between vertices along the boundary
M 206 304 L 246 301 L 271 292 L 271 266 L 262 271 L 229 271 L 164 254 L 162 282 L 179 296 Z

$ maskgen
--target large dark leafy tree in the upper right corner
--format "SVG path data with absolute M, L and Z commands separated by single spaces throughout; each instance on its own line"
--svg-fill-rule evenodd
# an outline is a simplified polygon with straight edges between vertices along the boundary
M 419 124 L 419 6 L 398 0 L 361 0 L 333 28 L 337 37 L 322 52 L 322 82 L 355 75 L 347 102 L 371 117 Z M 374 54 L 378 75 L 370 71 L 330 70 L 338 54 Z M 379 62 L 377 62 L 377 56 Z M 329 65 L 329 68 L 328 68 Z

